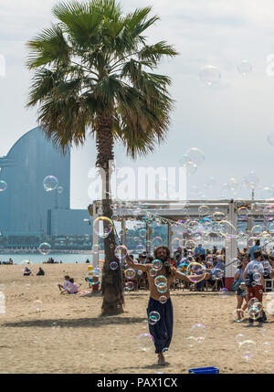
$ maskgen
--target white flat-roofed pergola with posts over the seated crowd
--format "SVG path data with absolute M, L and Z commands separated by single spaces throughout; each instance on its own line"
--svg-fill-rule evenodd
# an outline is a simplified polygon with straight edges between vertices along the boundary
M 130 207 L 129 207 L 130 205 Z M 273 215 L 274 218 L 274 200 L 273 209 L 271 208 L 271 200 L 266 202 L 262 200 L 189 200 L 187 202 L 178 200 L 131 200 L 131 201 L 119 201 L 119 207 L 115 207 L 113 202 L 113 215 L 117 220 L 121 221 L 121 228 L 123 230 L 121 234 L 121 244 L 125 245 L 126 230 L 125 225 L 127 219 L 134 218 L 134 220 L 142 219 L 144 212 L 148 217 L 161 218 L 161 222 L 167 225 L 168 240 L 167 246 L 169 249 L 172 247 L 172 240 L 174 235 L 174 225 L 180 220 L 185 218 L 197 219 L 201 218 L 201 207 L 208 207 L 208 210 L 212 213 L 216 212 L 216 220 L 226 220 L 230 225 L 226 228 L 226 237 L 229 238 L 226 242 L 226 287 L 230 289 L 233 277 L 235 274 L 236 267 L 233 264 L 229 264 L 231 260 L 237 258 L 237 226 L 238 218 L 240 220 L 247 221 L 248 231 L 251 231 L 253 227 L 253 220 L 260 219 L 265 220 L 264 208 L 269 207 L 269 214 Z M 93 221 L 100 217 L 101 201 L 96 200 L 89 207 L 90 216 L 93 217 Z M 186 212 L 187 210 L 187 212 Z M 140 213 L 139 213 L 140 211 Z M 236 232 L 235 232 L 236 228 Z M 224 241 L 226 240 L 224 237 Z M 146 240 L 150 241 L 151 230 L 150 226 L 146 224 Z M 252 239 L 252 238 L 251 238 Z M 247 242 L 247 247 L 253 245 Z M 199 240 L 197 241 L 199 243 Z M 93 230 L 93 246 L 99 245 L 99 236 Z M 149 250 L 149 249 L 147 249 Z M 99 263 L 100 255 L 98 252 L 93 254 L 93 264 L 96 266 Z

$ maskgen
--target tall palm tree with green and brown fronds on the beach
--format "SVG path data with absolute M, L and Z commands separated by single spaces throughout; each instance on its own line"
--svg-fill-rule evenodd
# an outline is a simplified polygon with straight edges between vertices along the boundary
M 151 7 L 123 16 L 115 0 L 59 3 L 52 9 L 58 23 L 27 42 L 26 66 L 35 69 L 27 106 L 38 104 L 37 119 L 64 153 L 96 139 L 96 166 L 105 174 L 102 215 L 112 217 L 110 175 L 113 144 L 122 143 L 136 159 L 153 152 L 165 139 L 174 101 L 171 79 L 153 73 L 165 56 L 177 52 L 165 41 L 146 44 L 145 30 L 159 18 Z M 123 281 L 113 230 L 104 238 L 102 313 L 122 313 Z M 118 260 L 117 260 L 118 261 Z

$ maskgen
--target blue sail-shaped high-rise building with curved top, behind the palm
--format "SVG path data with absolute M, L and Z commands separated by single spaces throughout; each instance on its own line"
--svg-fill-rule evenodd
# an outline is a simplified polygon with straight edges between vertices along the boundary
M 1 248 L 36 247 L 40 240 L 81 237 L 91 232 L 87 210 L 70 209 L 70 152 L 62 154 L 40 127 L 26 132 L 0 158 Z M 58 188 L 47 191 L 44 179 L 53 175 Z M 77 240 L 75 240 L 77 242 Z

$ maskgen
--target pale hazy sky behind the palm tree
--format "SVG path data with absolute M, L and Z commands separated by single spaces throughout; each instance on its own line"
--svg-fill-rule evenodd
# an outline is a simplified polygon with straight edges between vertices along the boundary
M 0 5 L 0 54 L 5 56 L 5 77 L 0 77 L 0 155 L 25 132 L 34 128 L 36 110 L 26 110 L 30 72 L 26 69 L 26 41 L 54 21 L 53 0 L 16 0 Z M 125 12 L 136 2 L 121 2 Z M 248 197 L 244 176 L 254 170 L 261 188 L 274 185 L 274 146 L 267 139 L 274 131 L 274 76 L 267 73 L 267 56 L 274 53 L 274 4 L 269 0 L 140 0 L 138 7 L 153 5 L 161 20 L 148 30 L 148 42 L 166 40 L 180 52 L 164 61 L 159 72 L 173 79 L 176 101 L 165 143 L 145 159 L 132 162 L 117 146 L 118 166 L 177 166 L 190 147 L 203 151 L 205 162 L 188 176 L 195 198 Z M 244 77 L 237 64 L 247 59 L 252 72 Z M 215 86 L 206 86 L 200 69 L 220 70 Z M 88 172 L 96 159 L 95 144 L 88 140 L 72 152 L 71 206 L 89 203 Z M 81 175 L 79 175 L 79 173 Z M 212 188 L 205 186 L 216 178 Z M 234 177 L 237 192 L 223 186 Z

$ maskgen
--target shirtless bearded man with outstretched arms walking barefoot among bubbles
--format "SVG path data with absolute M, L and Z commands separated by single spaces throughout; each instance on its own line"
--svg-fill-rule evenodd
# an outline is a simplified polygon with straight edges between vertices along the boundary
M 132 269 L 145 271 L 148 276 L 150 300 L 148 303 L 147 314 L 150 320 L 152 312 L 159 313 L 160 318 L 156 322 L 149 323 L 150 334 L 153 336 L 155 353 L 158 355 L 158 364 L 166 365 L 163 353 L 168 350 L 173 336 L 174 311 L 170 298 L 170 286 L 174 279 L 188 281 L 189 278 L 184 273 L 179 272 L 170 265 L 170 250 L 160 246 L 154 249 L 154 259 L 161 260 L 161 269 L 153 270 L 153 264 L 134 263 L 126 256 L 128 265 Z M 153 270 L 153 273 L 151 271 Z M 156 285 L 155 279 L 160 281 Z

